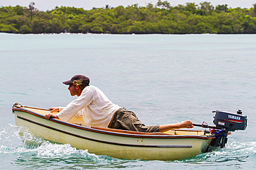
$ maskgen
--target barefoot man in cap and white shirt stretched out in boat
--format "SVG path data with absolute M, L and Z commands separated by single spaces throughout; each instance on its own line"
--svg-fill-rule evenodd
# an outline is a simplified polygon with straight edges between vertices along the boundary
M 181 123 L 145 126 L 138 120 L 134 112 L 123 109 L 111 103 L 104 93 L 93 85 L 89 85 L 90 80 L 83 75 L 75 75 L 70 81 L 64 81 L 68 86 L 71 96 L 78 96 L 66 107 L 53 107 L 50 114 L 44 118 L 60 118 L 61 120 L 71 120 L 73 116 L 83 117 L 86 125 L 95 127 L 109 127 L 113 129 L 125 129 L 142 132 L 163 132 L 170 129 L 192 128 L 190 120 Z M 60 111 L 58 114 L 53 114 Z

